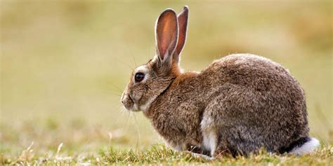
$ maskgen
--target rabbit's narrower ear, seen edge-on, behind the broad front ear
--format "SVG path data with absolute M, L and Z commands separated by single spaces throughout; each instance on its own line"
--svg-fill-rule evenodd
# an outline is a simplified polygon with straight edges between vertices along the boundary
M 174 53 L 174 60 L 179 62 L 179 55 L 181 54 L 181 50 L 183 50 L 186 41 L 186 34 L 188 31 L 188 6 L 184 6 L 183 11 L 178 14 L 178 43 Z

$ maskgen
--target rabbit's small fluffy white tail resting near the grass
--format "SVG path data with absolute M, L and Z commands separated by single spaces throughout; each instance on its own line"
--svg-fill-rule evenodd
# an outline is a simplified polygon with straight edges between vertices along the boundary
M 294 142 L 294 147 L 289 153 L 295 155 L 304 155 L 315 151 L 316 148 L 320 145 L 318 139 L 313 137 L 303 137 L 299 141 Z

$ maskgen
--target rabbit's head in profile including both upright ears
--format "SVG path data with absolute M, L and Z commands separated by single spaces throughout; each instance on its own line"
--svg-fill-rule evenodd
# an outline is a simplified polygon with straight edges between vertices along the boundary
M 188 7 L 176 15 L 166 9 L 155 26 L 156 55 L 147 64 L 134 69 L 123 94 L 122 103 L 130 111 L 145 111 L 181 74 L 180 54 L 185 45 Z

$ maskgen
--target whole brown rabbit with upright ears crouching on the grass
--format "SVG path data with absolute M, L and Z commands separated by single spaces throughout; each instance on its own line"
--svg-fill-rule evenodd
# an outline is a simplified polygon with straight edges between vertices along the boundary
M 200 72 L 183 71 L 181 50 L 188 29 L 188 6 L 178 15 L 167 8 L 155 25 L 156 55 L 133 70 L 121 102 L 142 111 L 176 151 L 249 155 L 311 153 L 304 91 L 277 62 L 252 54 L 214 60 Z

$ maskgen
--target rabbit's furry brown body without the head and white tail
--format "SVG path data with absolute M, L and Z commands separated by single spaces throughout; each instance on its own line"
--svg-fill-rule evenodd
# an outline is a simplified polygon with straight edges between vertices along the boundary
M 256 55 L 229 55 L 200 73 L 180 74 L 143 113 L 170 146 L 211 155 L 261 147 L 285 152 L 308 137 L 299 83 L 280 64 Z

